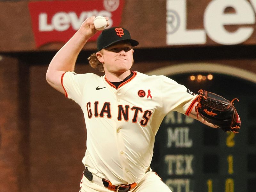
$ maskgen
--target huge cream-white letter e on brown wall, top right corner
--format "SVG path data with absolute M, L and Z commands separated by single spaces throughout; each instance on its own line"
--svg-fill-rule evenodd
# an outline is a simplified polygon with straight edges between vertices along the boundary
M 227 7 L 235 13 L 224 13 Z M 239 27 L 234 32 L 227 31 L 225 25 L 246 25 L 255 23 L 252 5 L 246 0 L 213 0 L 204 12 L 204 28 L 207 35 L 219 44 L 239 44 L 247 40 L 253 32 L 252 27 Z

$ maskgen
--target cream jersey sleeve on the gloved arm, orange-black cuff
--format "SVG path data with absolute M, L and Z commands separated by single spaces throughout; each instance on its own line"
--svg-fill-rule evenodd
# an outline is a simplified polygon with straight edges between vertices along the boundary
M 189 115 L 196 102 L 197 95 L 190 92 L 184 85 L 178 84 L 176 81 L 165 76 L 162 76 L 161 85 L 164 113 L 178 111 Z

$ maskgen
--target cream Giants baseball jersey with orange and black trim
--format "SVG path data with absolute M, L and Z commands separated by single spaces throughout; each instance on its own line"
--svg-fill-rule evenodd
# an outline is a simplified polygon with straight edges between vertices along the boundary
M 84 112 L 87 130 L 83 163 L 113 185 L 138 182 L 153 156 L 155 135 L 172 110 L 189 115 L 196 95 L 166 76 L 132 71 L 116 87 L 106 76 L 66 72 L 66 97 Z

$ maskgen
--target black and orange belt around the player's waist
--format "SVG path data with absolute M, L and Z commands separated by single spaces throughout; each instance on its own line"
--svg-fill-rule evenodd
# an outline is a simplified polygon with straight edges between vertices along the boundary
M 150 167 L 146 170 L 145 173 L 150 171 Z M 84 169 L 84 176 L 89 180 L 92 181 L 92 173 L 88 170 L 87 167 Z M 102 178 L 102 183 L 105 188 L 108 188 L 111 191 L 116 191 L 116 192 L 128 192 L 134 189 L 138 184 L 137 183 L 132 183 L 132 184 L 124 184 L 124 185 L 112 185 L 112 183 L 106 179 Z

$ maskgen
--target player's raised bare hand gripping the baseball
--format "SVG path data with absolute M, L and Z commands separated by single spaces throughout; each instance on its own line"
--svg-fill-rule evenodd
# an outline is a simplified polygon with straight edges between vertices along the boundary
M 107 27 L 109 26 L 109 22 L 108 22 L 108 17 L 105 17 L 107 20 Z M 89 18 L 87 18 L 81 25 L 81 27 L 78 29 L 78 32 L 80 32 L 85 40 L 90 39 L 94 34 L 96 34 L 98 32 L 98 30 L 96 30 L 94 28 L 94 24 L 93 24 L 93 20 L 95 19 L 95 16 L 91 16 Z

